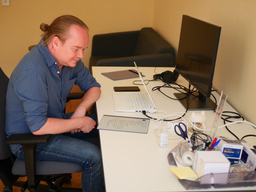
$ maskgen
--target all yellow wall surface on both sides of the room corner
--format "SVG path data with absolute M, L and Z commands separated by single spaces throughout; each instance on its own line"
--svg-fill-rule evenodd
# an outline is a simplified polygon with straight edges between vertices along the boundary
M 50 24 L 63 14 L 79 17 L 90 28 L 83 59 L 86 66 L 93 35 L 146 26 L 153 26 L 177 52 L 182 15 L 186 14 L 222 27 L 213 87 L 225 91 L 228 102 L 256 124 L 255 10 L 255 0 L 10 0 L 10 6 L 0 5 L 0 66 L 10 76 L 28 47 L 40 40 L 39 25 Z

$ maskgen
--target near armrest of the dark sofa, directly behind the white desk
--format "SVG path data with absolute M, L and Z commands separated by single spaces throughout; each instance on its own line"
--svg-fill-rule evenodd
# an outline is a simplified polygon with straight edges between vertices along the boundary
M 175 67 L 174 57 L 170 53 L 101 59 L 96 66 L 134 67 L 134 61 L 138 67 Z

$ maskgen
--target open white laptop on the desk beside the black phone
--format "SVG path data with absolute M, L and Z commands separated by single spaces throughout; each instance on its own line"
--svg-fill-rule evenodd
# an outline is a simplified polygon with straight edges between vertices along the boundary
M 113 92 L 115 111 L 120 112 L 152 112 L 156 111 L 156 106 L 146 88 L 146 85 L 142 79 L 141 73 L 134 61 L 135 67 L 140 76 L 146 92 Z M 142 103 L 140 102 L 142 101 Z

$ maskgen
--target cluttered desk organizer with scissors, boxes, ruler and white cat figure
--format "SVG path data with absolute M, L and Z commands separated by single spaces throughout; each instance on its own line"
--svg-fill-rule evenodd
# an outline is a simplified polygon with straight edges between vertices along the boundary
M 171 170 L 186 189 L 256 185 L 255 148 L 244 140 L 215 135 L 226 100 L 227 94 L 222 92 L 211 129 L 206 129 L 204 111 L 190 115 L 187 126 L 192 127 L 187 129 L 184 123 L 174 127 L 185 141 L 168 154 L 168 161 L 177 165 Z

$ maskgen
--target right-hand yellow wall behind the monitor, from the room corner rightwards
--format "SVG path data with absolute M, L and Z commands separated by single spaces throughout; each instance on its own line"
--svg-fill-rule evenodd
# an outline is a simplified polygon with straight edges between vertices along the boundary
M 154 1 L 153 28 L 177 54 L 182 15 L 221 26 L 213 88 L 228 94 L 228 103 L 247 121 L 255 120 L 255 0 Z

